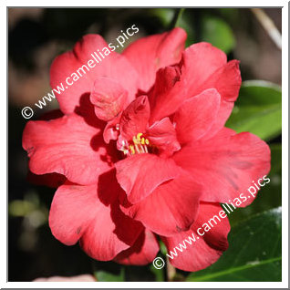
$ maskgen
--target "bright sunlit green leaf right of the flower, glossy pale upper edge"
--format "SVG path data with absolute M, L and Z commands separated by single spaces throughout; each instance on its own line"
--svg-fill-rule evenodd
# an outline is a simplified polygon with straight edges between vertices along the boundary
M 266 81 L 245 81 L 226 127 L 249 131 L 263 140 L 278 136 L 282 129 L 281 88 Z

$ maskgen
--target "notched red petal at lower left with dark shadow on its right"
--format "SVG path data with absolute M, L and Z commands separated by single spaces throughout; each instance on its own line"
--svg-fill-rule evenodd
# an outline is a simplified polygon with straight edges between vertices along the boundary
M 51 204 L 49 226 L 57 240 L 67 245 L 80 240 L 84 251 L 101 261 L 129 248 L 143 228 L 115 204 L 100 202 L 95 184 L 60 186 Z

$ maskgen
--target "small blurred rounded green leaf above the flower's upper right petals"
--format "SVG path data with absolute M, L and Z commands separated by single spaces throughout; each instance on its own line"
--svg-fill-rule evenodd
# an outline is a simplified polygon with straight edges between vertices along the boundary
M 202 41 L 229 53 L 235 46 L 233 31 L 222 18 L 204 16 L 202 18 Z

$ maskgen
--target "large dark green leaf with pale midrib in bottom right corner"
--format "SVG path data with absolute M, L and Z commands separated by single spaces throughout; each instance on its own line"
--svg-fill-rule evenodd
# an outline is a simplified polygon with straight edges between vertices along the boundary
M 281 281 L 281 233 L 281 207 L 252 216 L 233 227 L 220 260 L 187 281 Z

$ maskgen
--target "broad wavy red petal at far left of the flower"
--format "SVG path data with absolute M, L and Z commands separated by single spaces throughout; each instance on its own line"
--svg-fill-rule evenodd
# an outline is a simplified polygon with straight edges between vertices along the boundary
M 89 126 L 75 114 L 27 122 L 23 148 L 33 173 L 57 172 L 79 184 L 98 181 L 98 175 L 109 171 L 117 159 L 112 146 L 103 142 L 101 129 Z

